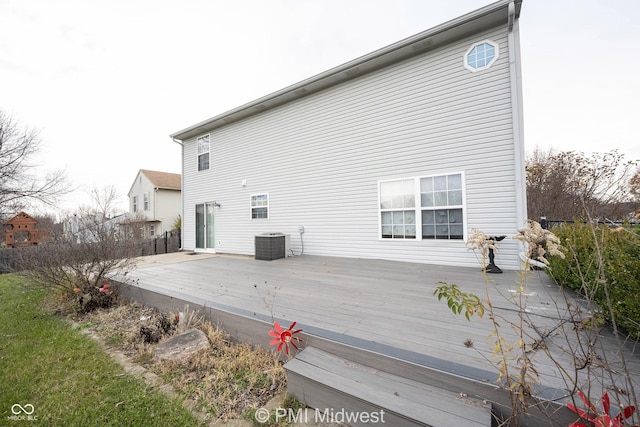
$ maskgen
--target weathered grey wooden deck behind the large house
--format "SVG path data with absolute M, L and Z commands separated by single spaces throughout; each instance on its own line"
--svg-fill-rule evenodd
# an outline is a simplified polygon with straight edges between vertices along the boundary
M 490 363 L 493 323 L 488 316 L 467 321 L 463 315 L 452 314 L 446 302 L 438 301 L 433 292 L 440 282 L 446 282 L 483 300 L 489 295 L 497 316 L 517 322 L 513 298 L 521 278 L 521 273 L 514 271 L 487 276 L 480 268 L 384 260 L 305 255 L 258 261 L 178 253 L 146 257 L 129 273 L 128 282 L 135 285 L 131 289 L 186 301 L 192 308 L 218 308 L 245 318 L 278 320 L 283 326 L 297 321 L 308 341 L 314 337 L 333 340 L 490 385 L 498 378 Z M 566 307 L 567 301 L 574 307 L 583 303 L 563 293 L 543 272 L 527 272 L 525 278 L 527 320 L 535 325 L 535 330 L 525 328 L 532 336 L 525 341 L 533 345 L 534 338 L 546 336 L 544 345 L 553 359 L 575 372 L 567 352 L 569 345 L 576 344 L 571 338 L 576 336 L 575 322 L 569 319 Z M 517 343 L 519 337 L 507 321 L 499 320 L 500 334 L 508 342 Z M 264 335 L 263 345 L 268 344 L 267 331 L 258 332 Z M 599 339 L 603 352 L 599 360 L 615 368 L 621 362 L 618 352 L 609 351 L 617 348 L 614 337 L 602 331 Z M 473 347 L 468 348 L 465 342 L 473 342 Z M 624 356 L 630 369 L 640 372 L 640 358 L 633 349 Z M 529 357 L 539 373 L 535 395 L 564 403 L 572 385 L 545 351 L 531 351 Z M 638 378 L 634 376 L 636 388 Z M 591 381 L 592 389 L 608 389 L 614 381 L 618 388 L 630 388 L 619 378 L 607 379 L 604 384 L 594 378 Z M 597 396 L 596 392 L 593 395 Z

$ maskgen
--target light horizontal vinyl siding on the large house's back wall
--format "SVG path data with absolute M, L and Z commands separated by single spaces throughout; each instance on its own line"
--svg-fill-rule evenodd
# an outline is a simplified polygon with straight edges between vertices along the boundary
M 490 39 L 487 70 L 463 64 Z M 218 201 L 215 250 L 253 254 L 254 235 L 291 234 L 296 254 L 478 265 L 464 241 L 381 239 L 381 180 L 462 172 L 465 237 L 472 228 L 513 235 L 516 159 L 507 30 L 488 30 L 239 122 L 211 135 L 210 169 L 184 142 L 183 247 L 195 247 L 195 204 Z M 242 182 L 246 181 L 246 186 Z M 269 194 L 269 218 L 252 220 L 250 195 Z M 497 264 L 517 268 L 518 246 Z

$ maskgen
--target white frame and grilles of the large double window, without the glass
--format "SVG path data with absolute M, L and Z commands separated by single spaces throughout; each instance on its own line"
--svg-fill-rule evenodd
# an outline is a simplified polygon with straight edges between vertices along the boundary
M 434 205 L 423 207 L 421 201 L 421 189 L 420 189 L 420 180 L 423 178 L 435 178 L 435 177 L 443 177 L 449 175 L 460 175 L 460 179 L 462 181 L 462 204 L 459 205 Z M 413 199 L 413 207 L 411 206 L 390 206 L 390 207 L 382 207 L 382 186 L 384 183 L 392 183 L 392 182 L 401 182 L 401 181 L 412 181 L 411 186 L 413 187 L 413 194 L 411 194 Z M 462 209 L 462 239 L 438 239 L 438 238 L 423 238 L 422 237 L 422 212 L 423 211 L 435 211 L 435 210 L 445 210 L 445 209 Z M 385 237 L 386 234 L 383 235 L 383 220 L 382 213 L 383 212 L 407 212 L 410 211 L 413 213 L 413 218 L 409 215 L 409 219 L 413 219 L 415 223 L 415 237 L 406 237 L 407 236 L 407 225 L 403 224 L 405 227 L 404 237 Z M 404 215 L 404 218 L 407 218 L 407 215 Z M 394 224 L 395 225 L 395 224 Z M 466 242 L 467 240 L 467 195 L 466 195 L 466 177 L 464 171 L 452 171 L 452 172 L 443 172 L 431 175 L 421 175 L 414 177 L 403 177 L 403 178 L 395 178 L 395 179 L 386 179 L 378 181 L 378 239 L 383 241 L 434 241 L 434 242 Z M 411 230 L 409 227 L 409 236 L 411 234 Z

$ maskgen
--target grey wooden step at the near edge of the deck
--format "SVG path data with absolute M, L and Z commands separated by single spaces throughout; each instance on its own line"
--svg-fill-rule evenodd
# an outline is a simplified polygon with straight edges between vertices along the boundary
M 289 393 L 318 414 L 350 417 L 337 421 L 354 427 L 370 426 L 382 414 L 385 425 L 394 427 L 491 426 L 490 405 L 478 399 L 373 369 L 315 347 L 305 348 L 284 368 Z

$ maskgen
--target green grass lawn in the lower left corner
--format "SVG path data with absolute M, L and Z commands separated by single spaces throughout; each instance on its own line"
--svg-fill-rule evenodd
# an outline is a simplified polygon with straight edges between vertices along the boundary
M 43 309 L 45 297 L 25 279 L 0 275 L 0 426 L 31 425 L 29 417 L 51 426 L 200 425 L 180 402 L 125 374 L 94 341 Z

